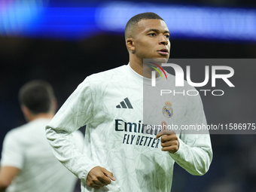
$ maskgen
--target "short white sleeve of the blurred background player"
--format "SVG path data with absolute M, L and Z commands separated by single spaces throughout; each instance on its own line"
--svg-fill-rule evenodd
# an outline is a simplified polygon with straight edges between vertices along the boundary
M 1 166 L 13 166 L 23 168 L 24 155 L 23 146 L 14 131 L 7 133 L 3 142 Z

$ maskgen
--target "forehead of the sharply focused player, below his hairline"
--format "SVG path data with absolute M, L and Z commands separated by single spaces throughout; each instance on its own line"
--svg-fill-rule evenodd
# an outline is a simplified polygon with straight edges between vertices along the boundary
M 169 31 L 166 23 L 163 20 L 140 20 L 137 23 L 137 28 L 140 32 L 147 31 L 148 29 L 159 29 Z

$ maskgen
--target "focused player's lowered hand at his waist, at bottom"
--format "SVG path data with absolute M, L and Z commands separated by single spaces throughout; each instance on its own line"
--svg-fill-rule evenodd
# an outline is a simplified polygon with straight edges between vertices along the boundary
M 89 187 L 99 189 L 100 187 L 104 187 L 111 183 L 109 178 L 111 178 L 112 181 L 115 181 L 113 173 L 108 172 L 107 169 L 101 166 L 96 166 L 88 173 L 87 184 Z

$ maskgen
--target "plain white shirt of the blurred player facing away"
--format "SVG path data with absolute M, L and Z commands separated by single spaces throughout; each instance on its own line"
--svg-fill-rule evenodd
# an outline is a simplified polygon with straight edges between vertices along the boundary
M 77 177 L 56 160 L 45 138 L 47 118 L 38 118 L 11 130 L 5 136 L 1 166 L 20 169 L 7 192 L 72 192 Z M 73 133 L 75 145 L 83 151 L 84 136 Z M 72 140 L 73 141 L 73 140 Z

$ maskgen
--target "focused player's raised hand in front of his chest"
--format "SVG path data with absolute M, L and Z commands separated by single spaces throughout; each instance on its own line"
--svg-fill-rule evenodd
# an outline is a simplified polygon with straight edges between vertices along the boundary
M 161 137 L 161 146 L 162 151 L 169 151 L 171 154 L 174 154 L 178 151 L 179 142 L 178 137 L 176 136 L 175 131 L 167 130 L 166 121 L 162 121 L 163 130 L 157 134 L 156 139 Z

